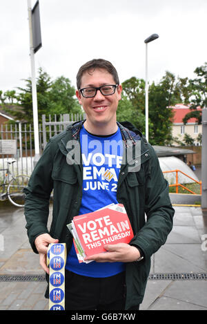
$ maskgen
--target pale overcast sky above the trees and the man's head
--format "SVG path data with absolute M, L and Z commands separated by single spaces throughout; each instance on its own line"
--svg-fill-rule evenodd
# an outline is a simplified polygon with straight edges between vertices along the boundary
M 32 7 L 36 0 L 32 1 Z M 179 77 L 207 61 L 206 0 L 39 0 L 42 47 L 39 67 L 55 79 L 63 75 L 76 86 L 79 67 L 93 58 L 115 65 L 120 82 L 145 78 L 159 82 L 169 70 Z M 24 86 L 31 76 L 28 1 L 1 0 L 0 90 Z

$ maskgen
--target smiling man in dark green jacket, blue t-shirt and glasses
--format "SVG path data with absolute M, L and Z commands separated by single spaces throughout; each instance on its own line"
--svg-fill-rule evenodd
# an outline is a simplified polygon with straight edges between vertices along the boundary
M 66 309 L 139 309 L 150 256 L 172 229 L 168 184 L 144 136 L 130 123 L 117 122 L 122 88 L 114 66 L 103 59 L 87 62 L 77 74 L 77 89 L 86 120 L 51 138 L 32 173 L 26 189 L 28 237 L 47 274 L 48 245 L 66 242 Z M 103 177 L 106 169 L 110 182 Z M 124 204 L 134 238 L 129 244 L 108 244 L 107 253 L 79 264 L 66 225 L 112 202 Z

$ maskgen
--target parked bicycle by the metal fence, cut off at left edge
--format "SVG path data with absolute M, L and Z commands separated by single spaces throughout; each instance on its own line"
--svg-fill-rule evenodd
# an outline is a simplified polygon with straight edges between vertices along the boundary
M 6 171 L 3 175 L 3 183 L 0 184 L 0 200 L 10 200 L 16 207 L 23 207 L 25 203 L 25 194 L 23 189 L 28 186 L 30 177 L 28 175 L 14 176 L 10 171 L 10 165 L 16 162 L 16 160 L 6 161 L 7 168 L 0 169 L 0 171 Z M 10 178 L 12 178 L 10 180 Z

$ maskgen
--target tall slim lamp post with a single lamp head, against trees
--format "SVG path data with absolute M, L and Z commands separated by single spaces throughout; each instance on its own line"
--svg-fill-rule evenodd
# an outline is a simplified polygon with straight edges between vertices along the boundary
M 145 133 L 146 140 L 149 140 L 149 128 L 148 128 L 148 43 L 155 41 L 159 35 L 152 34 L 144 42 L 146 44 L 146 82 L 145 82 Z

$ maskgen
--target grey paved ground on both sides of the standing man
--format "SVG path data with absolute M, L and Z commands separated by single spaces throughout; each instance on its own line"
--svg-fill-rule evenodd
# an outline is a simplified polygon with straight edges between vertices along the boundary
M 173 229 L 152 256 L 143 311 L 207 310 L 207 215 L 201 207 L 174 208 Z M 44 272 L 25 225 L 23 209 L 0 205 L 0 310 L 48 310 Z

